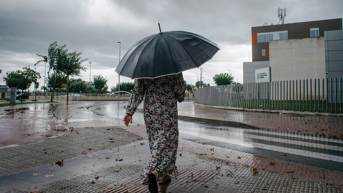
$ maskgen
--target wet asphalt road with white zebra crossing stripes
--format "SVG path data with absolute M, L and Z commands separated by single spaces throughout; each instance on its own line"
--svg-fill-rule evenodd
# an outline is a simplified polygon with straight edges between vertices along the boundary
M 89 110 L 122 120 L 125 108 L 121 103 L 96 105 Z M 144 125 L 143 113 L 137 111 L 133 116 L 133 123 Z M 180 138 L 197 143 L 270 159 L 343 171 L 342 140 L 297 135 L 279 130 L 233 128 L 180 119 L 179 133 Z

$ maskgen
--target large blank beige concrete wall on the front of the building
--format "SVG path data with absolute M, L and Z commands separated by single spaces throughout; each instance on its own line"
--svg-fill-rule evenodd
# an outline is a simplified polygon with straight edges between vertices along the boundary
M 325 78 L 324 37 L 269 41 L 272 81 Z

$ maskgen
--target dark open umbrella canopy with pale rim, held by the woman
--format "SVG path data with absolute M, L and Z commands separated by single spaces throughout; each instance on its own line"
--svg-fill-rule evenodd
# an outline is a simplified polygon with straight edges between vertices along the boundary
M 135 43 L 120 61 L 116 72 L 131 79 L 155 78 L 198 68 L 219 50 L 197 34 L 161 32 Z

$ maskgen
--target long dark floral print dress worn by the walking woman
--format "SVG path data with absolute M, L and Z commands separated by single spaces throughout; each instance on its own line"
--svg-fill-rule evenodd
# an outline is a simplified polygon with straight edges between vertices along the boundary
M 152 154 L 142 175 L 142 184 L 149 184 L 148 174 L 153 170 L 162 172 L 157 180 L 167 174 L 178 174 L 175 166 L 179 139 L 177 101 L 184 100 L 185 90 L 182 73 L 155 79 L 138 79 L 135 84 L 126 113 L 133 115 L 145 95 L 144 121 Z

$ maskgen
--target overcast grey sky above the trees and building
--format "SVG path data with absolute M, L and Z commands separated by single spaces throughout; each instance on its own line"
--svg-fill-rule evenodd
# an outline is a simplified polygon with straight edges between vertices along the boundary
M 157 23 L 162 32 L 192 32 L 218 45 L 221 50 L 202 65 L 204 83 L 214 85 L 215 74 L 228 72 L 243 83 L 243 62 L 251 61 L 251 27 L 276 25 L 279 7 L 286 8 L 288 23 L 343 17 L 342 0 L 1 0 L 0 85 L 7 71 L 33 68 L 41 59 L 36 54 L 47 55 L 49 45 L 57 41 L 88 58 L 83 63 L 87 71 L 81 73 L 84 81 L 90 74 L 101 74 L 110 88 L 118 83 L 117 42 L 122 58 L 135 42 L 158 33 Z M 42 76 L 44 68 L 44 63 L 37 65 Z M 198 78 L 200 69 L 184 72 L 188 84 Z

